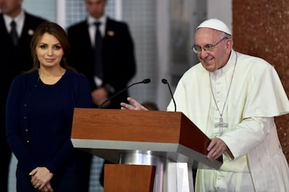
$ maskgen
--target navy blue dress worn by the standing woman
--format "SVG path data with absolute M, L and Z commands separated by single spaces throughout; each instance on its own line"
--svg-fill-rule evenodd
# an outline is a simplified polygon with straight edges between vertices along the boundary
M 13 80 L 6 105 L 6 137 L 17 158 L 17 191 L 38 191 L 29 172 L 45 166 L 54 174 L 57 191 L 86 191 L 89 154 L 73 148 L 74 108 L 92 107 L 89 82 L 66 70 L 52 85 L 41 82 L 38 71 Z M 89 167 L 89 166 L 88 166 Z

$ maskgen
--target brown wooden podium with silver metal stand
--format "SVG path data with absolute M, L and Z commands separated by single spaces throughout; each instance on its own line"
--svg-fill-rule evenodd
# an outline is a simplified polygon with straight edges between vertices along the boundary
M 75 108 L 71 140 L 118 163 L 105 165 L 105 192 L 177 191 L 170 176 L 174 163 L 187 163 L 189 184 L 191 168 L 218 169 L 223 163 L 207 159 L 209 138 L 181 112 Z

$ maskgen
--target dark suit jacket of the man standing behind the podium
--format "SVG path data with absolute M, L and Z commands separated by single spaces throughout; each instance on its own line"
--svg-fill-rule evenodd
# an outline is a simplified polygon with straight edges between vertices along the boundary
M 89 37 L 89 26 L 84 20 L 68 27 L 68 39 L 71 43 L 71 54 L 68 63 L 84 73 L 89 80 L 91 91 L 96 89 L 94 83 L 94 47 Z M 108 18 L 103 38 L 103 86 L 110 84 L 114 93 L 128 86 L 128 82 L 135 75 L 134 45 L 128 25 Z M 124 91 L 112 99 L 108 108 L 120 108 L 120 102 L 126 102 L 128 91 Z

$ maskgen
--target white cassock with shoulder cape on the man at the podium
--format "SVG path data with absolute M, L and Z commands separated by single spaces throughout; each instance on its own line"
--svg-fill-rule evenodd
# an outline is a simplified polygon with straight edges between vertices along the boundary
M 274 117 L 289 112 L 289 102 L 272 65 L 232 50 L 228 64 L 218 71 L 210 74 L 202 64 L 186 71 L 174 98 L 177 111 L 209 138 L 221 138 L 234 156 L 223 155 L 219 170 L 198 170 L 195 191 L 289 191 L 288 163 L 274 124 Z M 168 111 L 174 110 L 171 101 Z M 214 126 L 220 111 L 228 124 L 221 134 Z M 248 188 L 242 189 L 245 183 Z

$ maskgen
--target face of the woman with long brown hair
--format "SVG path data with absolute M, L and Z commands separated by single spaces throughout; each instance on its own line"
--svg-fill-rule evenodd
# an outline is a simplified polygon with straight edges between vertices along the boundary
M 36 45 L 36 55 L 40 66 L 60 66 L 60 61 L 64 56 L 64 50 L 55 36 L 45 33 Z

